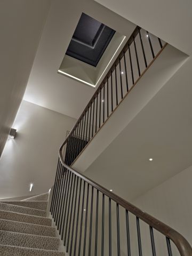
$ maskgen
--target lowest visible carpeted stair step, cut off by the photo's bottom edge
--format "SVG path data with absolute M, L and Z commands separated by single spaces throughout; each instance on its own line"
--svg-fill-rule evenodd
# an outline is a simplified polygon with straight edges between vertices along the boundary
M 0 255 L 3 256 L 65 256 L 64 252 L 31 249 L 0 244 Z

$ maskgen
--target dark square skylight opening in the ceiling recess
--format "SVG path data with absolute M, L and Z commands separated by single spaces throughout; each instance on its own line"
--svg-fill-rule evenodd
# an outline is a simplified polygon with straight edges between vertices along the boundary
M 97 67 L 115 30 L 82 13 L 66 55 Z

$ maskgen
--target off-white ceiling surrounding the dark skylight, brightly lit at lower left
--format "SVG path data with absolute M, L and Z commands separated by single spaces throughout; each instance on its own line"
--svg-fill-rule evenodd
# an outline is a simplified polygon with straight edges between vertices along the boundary
M 93 0 L 52 0 L 23 99 L 74 118 L 81 115 L 95 89 L 57 71 L 82 12 L 125 36 L 135 28 Z

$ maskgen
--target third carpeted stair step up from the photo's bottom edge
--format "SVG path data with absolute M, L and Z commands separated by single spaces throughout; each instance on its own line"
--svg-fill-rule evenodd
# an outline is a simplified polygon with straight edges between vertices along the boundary
M 18 232 L 18 233 L 31 234 L 31 235 L 55 237 L 55 228 L 53 227 L 36 225 L 31 223 L 19 222 L 19 221 L 0 219 L 0 229 L 6 230 L 6 231 Z

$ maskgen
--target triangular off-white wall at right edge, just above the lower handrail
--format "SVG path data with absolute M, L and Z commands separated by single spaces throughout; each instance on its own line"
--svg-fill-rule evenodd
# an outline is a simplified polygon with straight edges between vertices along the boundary
M 192 244 L 191 180 L 192 166 L 189 166 L 132 201 L 135 206 L 179 231 L 190 244 Z

